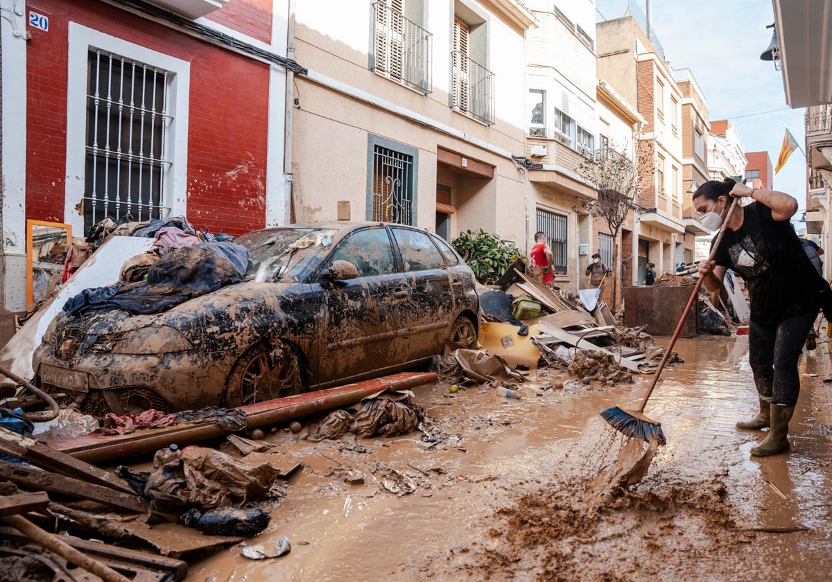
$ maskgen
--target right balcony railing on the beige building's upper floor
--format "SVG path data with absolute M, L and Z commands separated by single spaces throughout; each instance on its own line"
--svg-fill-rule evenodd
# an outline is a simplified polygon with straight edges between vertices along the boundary
M 494 73 L 460 51 L 451 52 L 451 63 L 451 106 L 490 126 L 494 122 Z

